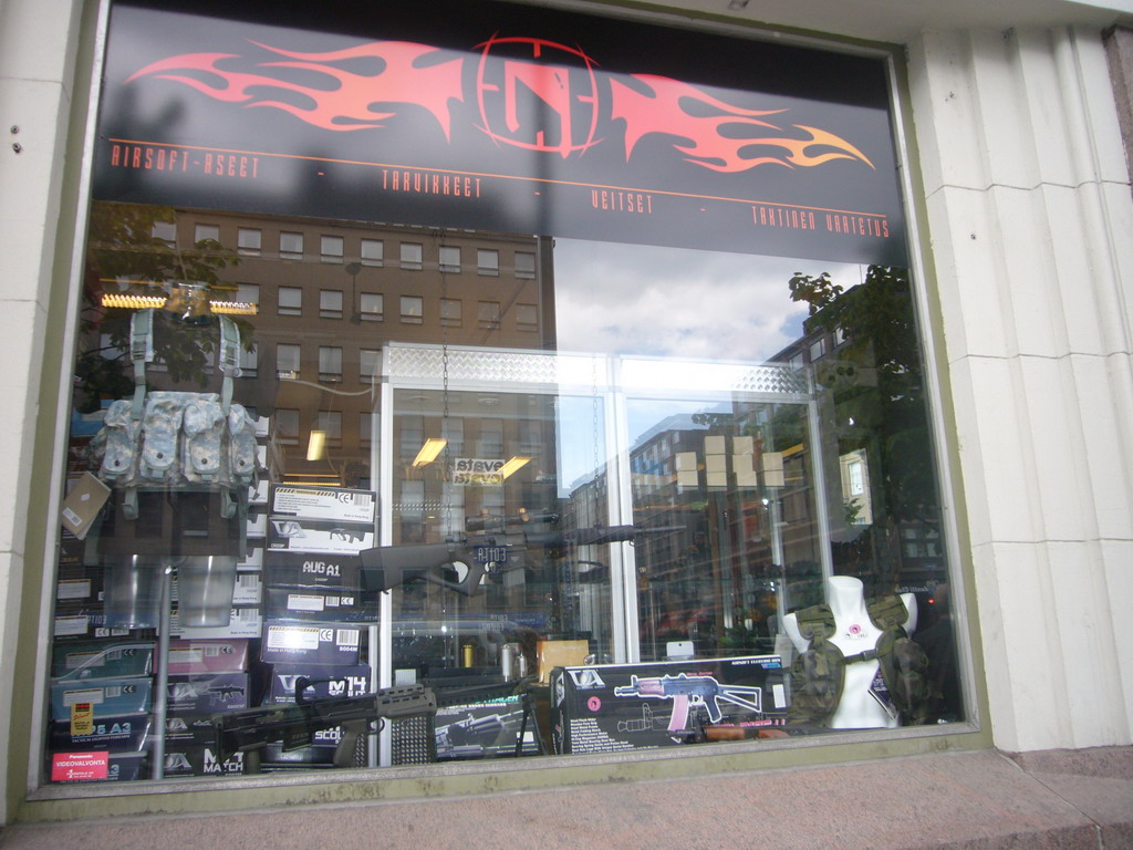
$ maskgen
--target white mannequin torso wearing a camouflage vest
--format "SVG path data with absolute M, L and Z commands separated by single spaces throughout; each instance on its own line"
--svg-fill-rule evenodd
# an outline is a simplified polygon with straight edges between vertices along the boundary
M 909 612 L 904 622 L 905 634 L 912 635 L 917 628 L 917 597 L 911 593 L 903 593 L 901 600 Z M 869 618 L 861 579 L 850 576 L 832 576 L 826 579 L 826 604 L 834 613 L 834 635 L 829 641 L 843 655 L 858 655 L 877 646 L 881 630 Z M 799 653 L 809 648 L 810 641 L 799 631 L 799 621 L 794 614 L 783 618 L 783 628 Z M 845 665 L 842 698 L 830 719 L 832 729 L 893 729 L 897 725 L 896 716 L 871 694 L 878 670 L 876 660 Z

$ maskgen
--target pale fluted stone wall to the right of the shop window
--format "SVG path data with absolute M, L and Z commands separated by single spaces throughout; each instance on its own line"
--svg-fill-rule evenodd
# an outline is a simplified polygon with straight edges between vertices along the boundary
M 1101 35 L 910 52 L 995 741 L 1128 743 L 1133 205 Z

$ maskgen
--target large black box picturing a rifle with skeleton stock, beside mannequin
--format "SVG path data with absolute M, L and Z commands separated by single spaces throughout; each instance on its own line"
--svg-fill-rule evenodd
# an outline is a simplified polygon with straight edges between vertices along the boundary
M 705 726 L 786 722 L 778 655 L 560 668 L 551 677 L 556 753 L 657 749 L 702 740 Z

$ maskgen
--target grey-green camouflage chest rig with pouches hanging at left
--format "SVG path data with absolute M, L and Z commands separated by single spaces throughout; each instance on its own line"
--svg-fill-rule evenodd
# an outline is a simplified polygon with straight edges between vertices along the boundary
M 258 473 L 255 424 L 232 403 L 232 377 L 239 376 L 240 335 L 219 316 L 221 394 L 146 391 L 145 364 L 153 359 L 153 311 L 130 320 L 134 398 L 107 410 L 105 425 L 91 441 L 91 467 L 122 491 L 122 512 L 137 519 L 138 491 L 211 491 L 222 494 L 221 513 L 235 517 Z

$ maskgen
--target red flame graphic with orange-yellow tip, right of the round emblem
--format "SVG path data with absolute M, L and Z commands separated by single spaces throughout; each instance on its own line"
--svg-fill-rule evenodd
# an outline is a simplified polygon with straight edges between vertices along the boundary
M 611 82 L 613 95 L 613 118 L 625 121 L 625 159 L 633 155 L 633 148 L 645 136 L 661 133 L 687 138 L 689 145 L 673 145 L 685 154 L 684 159 L 713 171 L 747 171 L 756 165 L 776 163 L 780 165 L 810 167 L 830 160 L 861 160 L 871 163 L 861 151 L 833 133 L 793 125 L 806 134 L 802 138 L 777 135 L 744 135 L 742 138 L 721 135 L 724 127 L 759 128 L 783 133 L 777 125 L 760 120 L 784 110 L 753 111 L 724 103 L 700 91 L 696 86 L 668 77 L 647 74 L 631 75 L 645 85 L 651 94 L 642 94 L 616 80 Z M 691 114 L 683 101 L 691 101 L 722 114 Z M 741 135 L 739 133 L 734 135 Z M 760 148 L 780 148 L 785 153 L 759 153 Z M 755 155 L 742 155 L 753 150 Z

